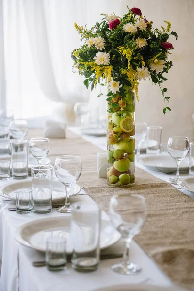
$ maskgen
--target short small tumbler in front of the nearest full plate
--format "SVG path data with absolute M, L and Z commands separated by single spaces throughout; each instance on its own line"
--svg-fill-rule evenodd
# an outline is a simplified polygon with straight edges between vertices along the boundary
M 50 271 L 66 269 L 66 239 L 63 237 L 49 237 L 45 254 L 46 266 Z

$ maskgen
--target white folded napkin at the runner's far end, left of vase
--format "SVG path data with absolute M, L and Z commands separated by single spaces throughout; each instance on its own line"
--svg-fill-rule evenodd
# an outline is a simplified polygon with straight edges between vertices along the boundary
M 66 123 L 54 119 L 48 119 L 45 122 L 45 137 L 65 138 Z

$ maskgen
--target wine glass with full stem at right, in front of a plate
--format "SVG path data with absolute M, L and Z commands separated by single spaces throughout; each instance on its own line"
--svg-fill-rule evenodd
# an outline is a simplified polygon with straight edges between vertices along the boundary
M 175 178 L 170 178 L 169 181 L 177 185 L 177 180 L 180 178 L 180 162 L 184 160 L 189 152 L 189 139 L 185 136 L 173 136 L 168 140 L 168 152 L 177 163 L 177 174 Z

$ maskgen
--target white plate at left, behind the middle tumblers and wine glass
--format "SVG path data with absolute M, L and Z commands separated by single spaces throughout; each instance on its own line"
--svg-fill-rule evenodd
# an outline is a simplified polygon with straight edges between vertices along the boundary
M 19 182 L 12 182 L 9 184 L 2 185 L 0 187 L 0 195 L 4 198 L 8 198 L 16 202 L 16 190 L 22 188 L 31 188 L 32 180 L 22 180 Z M 80 192 L 80 186 L 74 184 L 70 189 L 70 196 L 76 195 Z M 60 202 L 65 198 L 65 188 L 59 181 L 53 180 L 52 183 L 52 201 Z

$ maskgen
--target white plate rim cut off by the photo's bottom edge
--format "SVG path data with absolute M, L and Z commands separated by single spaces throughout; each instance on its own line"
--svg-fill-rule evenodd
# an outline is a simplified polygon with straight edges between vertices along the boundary
M 109 287 L 103 287 L 94 289 L 92 291 L 186 291 L 185 289 L 180 288 L 179 286 L 153 286 L 153 285 L 114 285 Z

